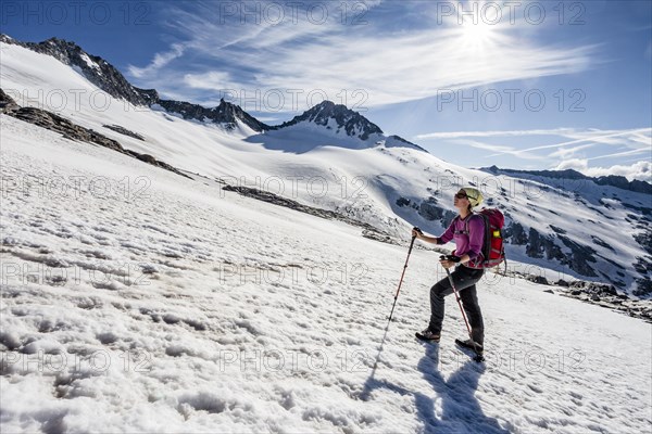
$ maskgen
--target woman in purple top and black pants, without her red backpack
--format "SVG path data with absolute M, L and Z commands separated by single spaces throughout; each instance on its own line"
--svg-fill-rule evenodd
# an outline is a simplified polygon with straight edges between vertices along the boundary
M 479 355 L 484 349 L 485 326 L 482 323 L 482 312 L 478 305 L 476 283 L 482 277 L 485 270 L 472 267 L 475 261 L 482 260 L 485 222 L 482 217 L 473 214 L 473 207 L 478 206 L 480 202 L 482 202 L 482 194 L 477 189 L 465 187 L 455 194 L 454 199 L 454 206 L 460 215 L 453 219 L 441 237 L 428 237 L 418 230 L 412 231 L 412 237 L 428 243 L 446 244 L 451 240 L 455 241 L 453 255 L 448 256 L 440 263 L 444 268 L 455 267 L 451 276 L 466 311 L 473 339 L 473 342 L 471 340 L 464 342 L 466 344 L 464 346 L 474 348 Z M 452 293 L 453 290 L 448 277 L 441 279 L 430 289 L 430 323 L 426 330 L 416 333 L 416 337 L 423 341 L 439 342 L 443 322 L 443 297 Z

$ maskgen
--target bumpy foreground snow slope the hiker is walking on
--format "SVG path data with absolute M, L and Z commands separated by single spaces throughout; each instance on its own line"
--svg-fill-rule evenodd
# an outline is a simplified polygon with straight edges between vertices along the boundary
M 648 323 L 488 275 L 477 365 L 434 252 L 386 332 L 406 246 L 0 123 L 3 433 L 649 432 Z

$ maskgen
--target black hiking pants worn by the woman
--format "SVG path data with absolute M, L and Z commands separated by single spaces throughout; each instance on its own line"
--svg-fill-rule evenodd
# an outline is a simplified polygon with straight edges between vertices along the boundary
M 463 265 L 457 266 L 451 276 L 462 299 L 462 306 L 466 312 L 466 318 L 471 326 L 472 339 L 480 345 L 485 344 L 485 323 L 482 322 L 482 311 L 478 305 L 478 294 L 476 283 L 482 278 L 485 270 L 468 268 Z M 453 293 L 451 282 L 448 276 L 437 282 L 430 289 L 430 329 L 434 333 L 441 332 L 443 322 L 443 297 Z

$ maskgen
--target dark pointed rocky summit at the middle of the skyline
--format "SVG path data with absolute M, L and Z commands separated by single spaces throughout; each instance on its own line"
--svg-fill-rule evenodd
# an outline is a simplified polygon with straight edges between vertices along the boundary
M 361 140 L 368 139 L 373 133 L 383 133 L 383 130 L 376 124 L 371 123 L 360 113 L 347 108 L 346 105 L 335 104 L 331 101 L 324 101 L 302 115 L 294 116 L 292 120 L 275 127 L 275 129 L 290 127 L 302 122 L 335 128 L 336 132 L 344 130 L 347 136 L 356 137 Z

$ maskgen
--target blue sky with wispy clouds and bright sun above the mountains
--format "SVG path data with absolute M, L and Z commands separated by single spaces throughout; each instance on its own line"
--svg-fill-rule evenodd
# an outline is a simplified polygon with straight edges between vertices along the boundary
M 136 86 L 280 123 L 328 98 L 452 163 L 651 180 L 651 1 L 12 2 Z

